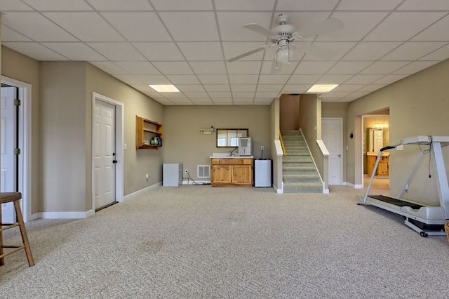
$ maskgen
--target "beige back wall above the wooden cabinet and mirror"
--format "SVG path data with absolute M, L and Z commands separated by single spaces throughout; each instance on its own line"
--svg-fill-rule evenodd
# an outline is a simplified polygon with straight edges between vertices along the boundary
M 197 180 L 198 165 L 210 165 L 213 152 L 229 152 L 217 148 L 216 133 L 201 135 L 201 128 L 248 128 L 253 141 L 253 156 L 270 158 L 269 106 L 166 106 L 163 109 L 163 163 L 182 163 Z M 186 175 L 185 175 L 186 177 Z M 210 179 L 204 179 L 210 180 Z

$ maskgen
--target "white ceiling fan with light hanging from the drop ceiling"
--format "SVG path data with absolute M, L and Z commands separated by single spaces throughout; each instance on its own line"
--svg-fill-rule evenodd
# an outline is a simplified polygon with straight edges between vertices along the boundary
M 278 26 L 274 27 L 272 30 L 264 28 L 258 24 L 251 23 L 243 25 L 243 27 L 253 30 L 259 34 L 269 37 L 269 44 L 260 46 L 251 51 L 241 53 L 233 58 L 229 58 L 227 61 L 232 62 L 239 60 L 240 58 L 246 57 L 258 51 L 262 51 L 265 48 L 272 46 L 278 46 L 276 53 L 273 58 L 273 72 L 279 72 L 281 64 L 289 64 L 293 60 L 293 49 L 301 49 L 304 52 L 308 52 L 319 56 L 321 58 L 331 58 L 335 55 L 335 51 L 329 50 L 327 48 L 321 48 L 319 46 L 314 46 L 312 44 L 303 44 L 302 39 L 308 36 L 314 36 L 318 34 L 323 34 L 330 32 L 334 29 L 340 29 L 344 27 L 342 21 L 337 18 L 329 18 L 323 22 L 318 22 L 304 29 L 296 31 L 293 25 L 287 24 L 288 16 L 280 14 L 277 16 L 276 21 L 279 23 Z

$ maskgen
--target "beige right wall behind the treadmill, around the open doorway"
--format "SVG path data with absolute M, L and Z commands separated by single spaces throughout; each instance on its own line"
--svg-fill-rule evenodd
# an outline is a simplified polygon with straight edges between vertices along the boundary
M 388 108 L 390 111 L 389 141 L 400 142 L 402 138 L 415 135 L 449 135 L 449 60 L 424 69 L 406 79 L 391 84 L 380 91 L 350 102 L 347 110 L 347 138 L 351 130 L 360 134 L 358 125 L 361 115 Z M 349 143 L 349 140 L 347 140 Z M 347 181 L 356 182 L 356 165 L 360 164 L 361 145 L 349 147 L 347 159 Z M 413 168 L 420 148 L 404 146 L 403 151 L 390 151 L 391 194 L 398 194 L 403 182 Z M 445 161 L 449 161 L 448 148 L 443 148 Z M 423 204 L 438 204 L 436 175 L 431 166 L 432 178 L 428 178 L 429 155 L 420 164 L 420 168 L 409 184 L 405 198 Z M 449 164 L 446 163 L 446 170 Z M 360 169 L 360 165 L 358 165 Z

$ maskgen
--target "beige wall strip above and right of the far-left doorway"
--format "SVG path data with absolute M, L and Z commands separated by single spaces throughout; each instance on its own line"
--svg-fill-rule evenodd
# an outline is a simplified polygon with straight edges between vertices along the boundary
M 41 208 L 41 185 L 38 183 L 41 161 L 40 161 L 40 131 L 39 131 L 39 62 L 20 54 L 16 51 L 1 46 L 1 75 L 25 82 L 32 86 L 31 110 L 31 143 L 32 143 L 32 178 L 31 182 L 31 213 L 42 211 Z

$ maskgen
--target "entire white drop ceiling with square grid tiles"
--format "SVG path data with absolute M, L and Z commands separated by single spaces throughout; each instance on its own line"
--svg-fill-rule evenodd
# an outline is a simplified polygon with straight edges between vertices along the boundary
M 36 60 L 91 62 L 162 105 L 269 105 L 316 83 L 340 84 L 323 101 L 349 102 L 449 58 L 441 0 L 0 0 L 0 11 L 4 46 Z M 227 62 L 267 44 L 243 25 L 269 29 L 279 13 L 297 30 L 340 18 L 342 29 L 304 40 L 336 55 L 303 47 L 275 72 L 277 46 Z

